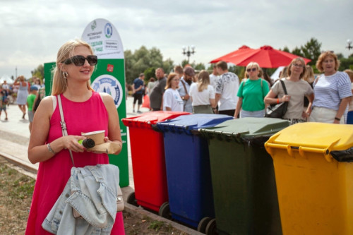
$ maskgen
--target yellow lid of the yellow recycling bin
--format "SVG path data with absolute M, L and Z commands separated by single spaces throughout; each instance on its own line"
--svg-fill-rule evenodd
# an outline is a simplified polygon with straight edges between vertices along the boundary
M 333 152 L 352 149 L 353 125 L 297 123 L 273 135 L 265 143 L 265 147 L 270 154 L 272 148 L 282 148 L 287 149 L 289 154 L 292 150 L 297 150 L 303 155 L 305 152 L 323 153 L 326 159 L 330 160 L 330 154 Z M 352 160 L 352 150 L 347 152 L 351 152 Z

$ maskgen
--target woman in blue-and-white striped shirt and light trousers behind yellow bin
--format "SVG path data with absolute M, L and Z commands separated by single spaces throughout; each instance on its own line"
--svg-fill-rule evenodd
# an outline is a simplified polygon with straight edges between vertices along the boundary
M 345 123 L 343 114 L 351 100 L 352 90 L 349 76 L 338 70 L 340 61 L 333 52 L 323 52 L 316 68 L 323 74 L 316 78 L 310 121 Z

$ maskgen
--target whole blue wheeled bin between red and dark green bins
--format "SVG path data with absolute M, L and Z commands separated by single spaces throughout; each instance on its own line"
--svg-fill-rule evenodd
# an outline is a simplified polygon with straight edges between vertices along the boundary
M 191 114 L 157 123 L 163 132 L 164 156 L 173 219 L 205 232 L 215 217 L 208 140 L 198 128 L 213 127 L 232 116 Z

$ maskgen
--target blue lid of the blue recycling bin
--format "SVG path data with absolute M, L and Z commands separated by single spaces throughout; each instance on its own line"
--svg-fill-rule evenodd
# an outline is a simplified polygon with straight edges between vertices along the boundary
M 216 126 L 229 119 L 233 117 L 223 114 L 191 114 L 159 122 L 157 126 L 161 131 L 185 131 L 191 134 L 191 131 L 198 130 L 198 128 Z

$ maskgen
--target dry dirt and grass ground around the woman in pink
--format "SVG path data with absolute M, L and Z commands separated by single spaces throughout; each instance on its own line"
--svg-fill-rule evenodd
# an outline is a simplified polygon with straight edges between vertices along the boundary
M 0 157 L 0 234 L 24 234 L 35 180 L 21 174 Z M 123 212 L 127 235 L 186 235 L 164 222 Z

